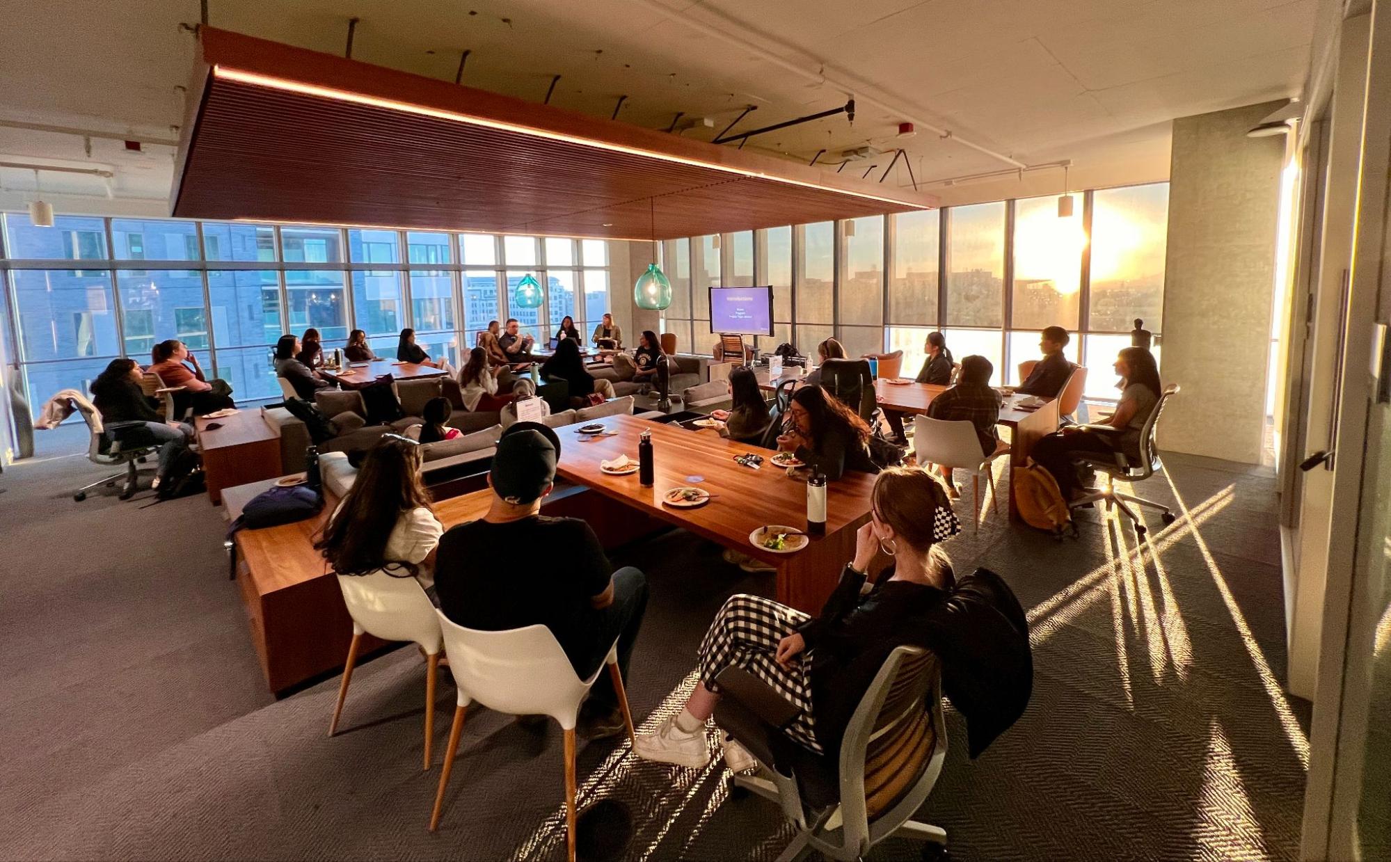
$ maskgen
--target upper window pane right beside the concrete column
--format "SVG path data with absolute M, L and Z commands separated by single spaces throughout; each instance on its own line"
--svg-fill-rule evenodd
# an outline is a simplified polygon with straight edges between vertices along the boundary
M 1150 332 L 1163 331 L 1167 242 L 1167 182 L 1092 192 L 1088 328 L 1129 332 L 1139 317 Z

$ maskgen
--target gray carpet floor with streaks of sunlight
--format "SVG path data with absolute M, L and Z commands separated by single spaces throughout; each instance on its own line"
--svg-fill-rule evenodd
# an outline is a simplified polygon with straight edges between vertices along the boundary
M 63 435 L 0 475 L 0 858 L 563 858 L 556 729 L 472 710 L 430 834 L 452 685 L 430 772 L 413 649 L 359 669 L 327 738 L 337 680 L 278 702 L 264 690 L 218 512 L 206 498 L 146 507 L 149 492 L 75 503 L 96 467 L 54 457 L 77 448 Z M 958 570 L 1002 573 L 1029 609 L 1036 672 L 1028 712 L 976 761 L 949 713 L 947 765 L 919 819 L 947 830 L 956 859 L 1295 858 L 1309 706 L 1281 692 L 1274 482 L 1166 463 L 1139 491 L 1191 517 L 1163 530 L 1150 517 L 1142 548 L 1100 513 L 1078 541 L 988 514 L 950 542 Z M 655 723 L 679 706 L 721 602 L 772 583 L 680 531 L 615 558 L 652 584 L 629 694 Z M 790 837 L 772 804 L 729 797 L 718 762 L 684 770 L 591 742 L 579 770 L 581 804 L 630 806 L 629 858 L 765 859 Z M 871 856 L 917 852 L 890 840 Z

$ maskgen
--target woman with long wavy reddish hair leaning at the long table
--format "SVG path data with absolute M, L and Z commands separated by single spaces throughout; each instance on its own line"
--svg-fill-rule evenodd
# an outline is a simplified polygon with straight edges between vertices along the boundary
M 829 481 L 846 470 L 879 471 L 869 459 L 869 425 L 821 387 L 801 387 L 791 393 L 778 449 L 796 453 L 797 460 Z

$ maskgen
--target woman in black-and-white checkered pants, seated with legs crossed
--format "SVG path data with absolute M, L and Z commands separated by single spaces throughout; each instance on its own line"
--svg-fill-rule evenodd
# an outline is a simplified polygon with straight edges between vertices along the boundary
M 926 517 L 924 513 L 928 513 Z M 700 646 L 700 683 L 686 706 L 637 738 L 648 761 L 700 767 L 709 763 L 705 722 L 719 699 L 719 674 L 740 667 L 796 706 L 783 729 L 814 752 L 836 752 L 860 698 L 883 660 L 912 642 L 924 620 L 956 583 L 939 542 L 961 530 L 942 481 L 917 467 L 885 470 L 871 494 L 871 519 L 855 532 L 855 558 L 815 617 L 772 599 L 734 595 L 721 608 Z M 867 573 L 878 552 L 893 559 L 872 587 Z M 729 740 L 734 772 L 753 756 Z

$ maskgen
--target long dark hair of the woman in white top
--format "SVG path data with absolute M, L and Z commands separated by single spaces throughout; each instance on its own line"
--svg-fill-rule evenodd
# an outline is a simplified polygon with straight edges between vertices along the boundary
M 401 514 L 417 507 L 431 509 L 420 482 L 420 446 L 395 434 L 383 435 L 367 450 L 357 481 L 328 520 L 314 549 L 338 574 L 371 574 L 383 570 L 392 577 L 412 577 L 415 563 L 387 560 L 387 542 Z M 431 509 L 433 510 L 433 509 Z

